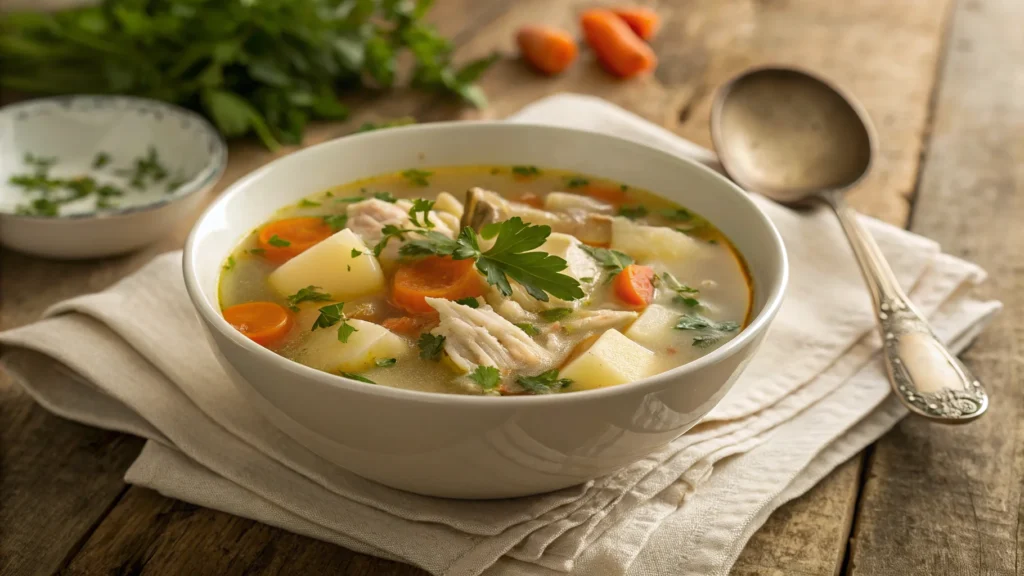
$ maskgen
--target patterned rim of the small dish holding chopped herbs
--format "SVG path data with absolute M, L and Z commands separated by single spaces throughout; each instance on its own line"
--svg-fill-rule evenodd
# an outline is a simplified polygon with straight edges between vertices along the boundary
M 126 216 L 130 216 L 139 212 L 147 212 L 150 210 L 158 210 L 168 204 L 178 202 L 179 200 L 184 200 L 185 198 L 206 190 L 208 187 L 216 183 L 220 176 L 224 174 L 224 170 L 227 169 L 227 142 L 224 141 L 223 136 L 220 132 L 213 127 L 213 124 L 209 120 L 204 118 L 202 115 L 193 112 L 186 108 L 180 106 L 166 102 L 163 100 L 157 100 L 153 98 L 146 98 L 142 96 L 130 96 L 122 94 L 63 94 L 56 96 L 44 96 L 40 98 L 32 98 L 26 101 L 14 102 L 0 108 L 0 116 L 6 114 L 13 114 L 22 109 L 31 109 L 40 105 L 59 105 L 60 102 L 68 102 L 69 105 L 74 100 L 85 100 L 85 99 L 96 99 L 96 100 L 122 100 L 130 102 L 133 105 L 146 105 L 151 107 L 162 108 L 170 114 L 176 114 L 178 116 L 184 116 L 196 123 L 199 124 L 200 128 L 208 132 L 212 136 L 212 141 L 214 142 L 213 154 L 210 155 L 207 163 L 203 166 L 195 176 L 183 182 L 181 186 L 174 191 L 174 194 L 168 195 L 165 198 L 161 198 L 156 202 L 151 202 L 150 204 L 140 204 L 138 206 L 129 206 L 126 208 L 118 208 L 116 210 L 109 210 L 99 212 L 93 209 L 89 212 L 81 212 L 78 214 L 68 214 L 68 215 L 57 215 L 57 216 L 37 216 L 35 214 L 17 214 L 15 212 L 6 212 L 0 210 L 0 218 L 11 218 L 20 219 L 29 221 L 46 221 L 46 222 L 57 222 L 57 221 L 70 221 L 70 220 L 104 220 L 104 219 L 116 219 Z

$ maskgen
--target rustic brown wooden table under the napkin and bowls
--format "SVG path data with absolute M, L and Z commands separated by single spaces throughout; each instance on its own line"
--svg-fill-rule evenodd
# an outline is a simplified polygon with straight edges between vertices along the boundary
M 1024 431 L 1024 3 L 1020 0 L 663 0 L 656 74 L 617 82 L 589 53 L 566 75 L 540 79 L 514 53 L 513 32 L 544 22 L 574 29 L 580 0 L 438 0 L 432 19 L 460 55 L 510 57 L 483 84 L 486 117 L 545 94 L 597 94 L 710 145 L 715 89 L 742 69 L 807 67 L 856 93 L 879 132 L 871 175 L 852 195 L 864 212 L 939 240 L 990 273 L 985 295 L 1006 312 L 965 355 L 990 386 L 980 421 L 943 427 L 907 419 L 806 495 L 776 511 L 735 574 L 1020 574 Z M 479 116 L 395 93 L 353 105 L 345 125 Z M 284 154 L 284 153 L 282 153 Z M 221 189 L 271 159 L 231 148 Z M 52 302 L 102 289 L 155 254 L 51 262 L 10 252 L 0 263 L 0 327 Z M 126 486 L 136 438 L 52 416 L 0 379 L 0 574 L 422 574 Z

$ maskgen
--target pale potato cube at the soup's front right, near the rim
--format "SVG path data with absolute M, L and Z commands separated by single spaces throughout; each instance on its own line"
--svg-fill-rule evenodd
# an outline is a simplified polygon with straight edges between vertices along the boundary
M 570 390 L 600 388 L 644 378 L 651 373 L 653 363 L 654 353 L 612 329 L 558 375 L 572 380 Z

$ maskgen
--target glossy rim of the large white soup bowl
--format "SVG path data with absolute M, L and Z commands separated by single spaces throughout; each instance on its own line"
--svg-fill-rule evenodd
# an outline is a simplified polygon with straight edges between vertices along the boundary
M 691 168 L 695 168 L 698 171 L 705 173 L 706 176 L 711 177 L 716 180 L 723 188 L 729 190 L 729 194 L 734 194 L 739 196 L 739 201 L 746 203 L 748 207 L 752 210 L 753 216 L 756 220 L 760 221 L 761 225 L 765 228 L 768 233 L 769 238 L 773 243 L 775 252 L 779 257 L 779 268 L 776 281 L 773 285 L 767 286 L 768 299 L 765 301 L 762 310 L 754 317 L 751 324 L 748 325 L 736 337 L 732 338 L 721 347 L 716 348 L 711 354 L 700 357 L 692 362 L 688 362 L 681 366 L 677 366 L 671 370 L 667 370 L 659 374 L 654 374 L 647 378 L 637 380 L 635 382 L 628 382 L 625 384 L 618 384 L 614 386 L 604 386 L 600 388 L 588 389 L 573 392 L 571 394 L 550 394 L 550 395 L 536 395 L 536 396 L 510 396 L 502 397 L 500 400 L 490 398 L 489 396 L 474 396 L 474 395 L 459 395 L 459 394 L 440 394 L 431 393 L 423 390 L 414 390 L 408 388 L 399 388 L 384 385 L 374 385 L 367 384 L 365 382 L 358 382 L 344 376 L 331 374 L 329 372 L 324 372 L 315 368 L 311 368 L 304 364 L 295 362 L 294 360 L 287 359 L 276 353 L 273 353 L 260 344 L 252 341 L 246 336 L 242 335 L 241 332 L 232 328 L 227 321 L 223 319 L 220 311 L 216 310 L 215 306 L 211 305 L 205 295 L 202 287 L 200 286 L 199 277 L 196 272 L 196 268 L 193 261 L 196 257 L 196 246 L 199 242 L 200 231 L 203 224 L 206 222 L 207 218 L 213 211 L 217 210 L 222 203 L 228 202 L 238 194 L 244 193 L 253 182 L 263 177 L 264 174 L 270 170 L 279 168 L 284 162 L 293 156 L 298 156 L 302 154 L 309 153 L 309 151 L 328 148 L 331 146 L 338 146 L 338 142 L 344 141 L 346 145 L 350 145 L 354 139 L 356 142 L 361 140 L 373 140 L 378 138 L 394 138 L 402 137 L 411 132 L 437 132 L 450 133 L 452 131 L 460 130 L 475 130 L 475 129 L 499 129 L 499 130 L 542 130 L 549 132 L 571 132 L 581 137 L 586 138 L 598 138 L 615 140 L 620 143 L 626 142 L 629 146 L 638 147 L 645 149 L 647 154 L 656 154 L 665 158 L 671 159 L 676 162 L 683 162 L 688 164 Z M 293 160 L 294 161 L 294 160 Z M 652 194 L 657 195 L 657 192 L 651 191 Z M 219 261 L 219 260 L 218 260 Z M 722 174 L 716 172 L 715 170 L 698 163 L 693 160 L 682 158 L 676 156 L 662 149 L 648 146 L 645 143 L 637 142 L 620 136 L 614 136 L 611 134 L 594 132 L 590 130 L 583 130 L 578 128 L 567 128 L 562 126 L 552 126 L 550 124 L 536 124 L 536 123 L 520 123 L 520 122 L 506 122 L 506 121 L 451 121 L 451 122 L 432 122 L 427 124 L 415 124 L 410 126 L 400 126 L 389 128 L 387 130 L 376 130 L 371 132 L 361 132 L 343 136 L 340 138 L 335 138 L 333 140 L 328 140 L 321 142 L 309 148 L 297 151 L 288 156 L 278 158 L 272 162 L 265 164 L 264 166 L 250 172 L 249 174 L 243 176 L 230 187 L 227 188 L 217 198 L 214 202 L 207 207 L 203 214 L 196 220 L 193 230 L 188 234 L 188 238 L 185 241 L 184 250 L 182 252 L 182 273 L 185 281 L 185 290 L 188 292 L 188 297 L 191 300 L 193 306 L 198 311 L 201 320 L 206 324 L 211 330 L 216 330 L 221 336 L 229 340 L 232 344 L 240 346 L 246 353 L 255 355 L 258 358 L 265 360 L 266 362 L 274 363 L 275 365 L 283 368 L 290 375 L 298 379 L 312 379 L 319 384 L 339 387 L 346 392 L 368 395 L 372 397 L 377 397 L 380 399 L 391 399 L 396 401 L 411 401 L 415 403 L 424 404 L 461 404 L 464 406 L 473 406 L 477 408 L 492 407 L 494 409 L 498 408 L 509 408 L 513 406 L 524 406 L 524 405 L 555 405 L 563 402 L 588 402 L 588 401 L 598 401 L 610 397 L 636 394 L 649 392 L 651 388 L 656 388 L 659 385 L 666 384 L 671 380 L 677 379 L 679 376 L 684 376 L 693 372 L 697 372 L 707 366 L 711 366 L 719 363 L 720 361 L 739 354 L 739 352 L 746 345 L 753 343 L 763 332 L 768 328 L 768 325 L 774 319 L 778 308 L 782 304 L 782 300 L 785 297 L 785 288 L 788 284 L 790 279 L 790 260 L 786 255 L 785 246 L 782 242 L 782 237 L 775 224 L 768 218 L 764 213 L 754 203 L 750 198 L 749 193 L 741 190 L 731 180 L 723 176 Z

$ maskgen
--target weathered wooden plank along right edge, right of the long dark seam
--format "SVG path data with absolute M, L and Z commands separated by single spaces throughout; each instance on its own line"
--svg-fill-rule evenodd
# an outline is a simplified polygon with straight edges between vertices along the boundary
M 1024 478 L 1024 4 L 957 8 L 912 230 L 990 274 L 1006 310 L 965 355 L 991 407 L 963 427 L 908 418 L 876 446 L 855 576 L 1021 574 Z

